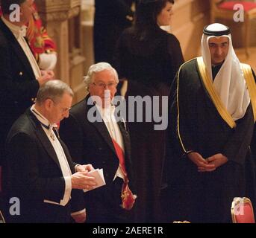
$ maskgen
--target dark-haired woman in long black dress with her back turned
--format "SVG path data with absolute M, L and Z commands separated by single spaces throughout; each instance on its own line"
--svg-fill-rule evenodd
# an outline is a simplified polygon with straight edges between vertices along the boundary
M 147 96 L 150 99 L 159 96 L 160 101 L 152 106 L 152 112 L 158 107 L 163 115 L 167 106 L 162 106 L 161 98 L 169 95 L 175 73 L 184 62 L 178 39 L 160 28 L 170 24 L 173 4 L 173 0 L 139 1 L 134 26 L 125 29 L 120 36 L 114 59 L 119 78 L 128 80 L 126 102 L 131 96 Z M 165 129 L 155 130 L 157 122 L 154 120 L 146 122 L 146 107 L 142 111 L 143 122 L 136 122 L 136 107 L 135 122 L 129 121 L 134 111 L 127 109 L 127 112 L 138 196 L 135 222 L 165 222 L 160 212 Z

